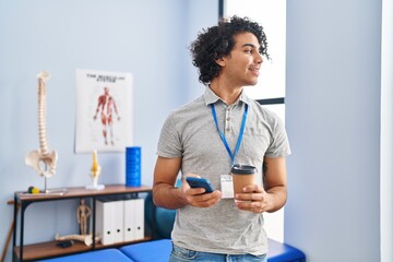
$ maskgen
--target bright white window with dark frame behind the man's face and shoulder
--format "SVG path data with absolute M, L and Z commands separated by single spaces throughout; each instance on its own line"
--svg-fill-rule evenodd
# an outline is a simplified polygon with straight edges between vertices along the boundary
M 286 1 L 221 0 L 219 15 L 248 16 L 263 26 L 271 60 L 264 60 L 258 85 L 246 87 L 245 92 L 285 121 Z M 264 217 L 269 237 L 284 241 L 284 210 Z

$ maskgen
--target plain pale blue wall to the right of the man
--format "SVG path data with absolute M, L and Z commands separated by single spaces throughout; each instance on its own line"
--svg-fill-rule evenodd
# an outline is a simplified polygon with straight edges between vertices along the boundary
M 380 260 L 381 1 L 287 2 L 285 240 Z

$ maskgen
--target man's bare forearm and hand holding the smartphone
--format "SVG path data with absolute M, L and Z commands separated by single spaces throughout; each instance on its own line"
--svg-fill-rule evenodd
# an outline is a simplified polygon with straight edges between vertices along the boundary
M 222 196 L 219 190 L 212 193 L 204 193 L 204 189 L 192 189 L 182 179 L 181 187 L 176 188 L 176 179 L 181 167 L 181 157 L 157 158 L 154 169 L 153 201 L 157 206 L 169 210 L 177 210 L 184 205 L 195 207 L 209 207 L 216 204 Z M 196 176 L 188 174 L 187 176 Z

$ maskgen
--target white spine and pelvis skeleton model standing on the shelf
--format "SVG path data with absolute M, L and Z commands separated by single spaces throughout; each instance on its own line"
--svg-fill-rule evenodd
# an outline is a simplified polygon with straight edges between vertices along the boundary
M 41 71 L 38 79 L 38 134 L 39 150 L 32 151 L 25 157 L 25 163 L 45 178 L 45 193 L 47 190 L 47 178 L 56 174 L 58 154 L 56 151 L 49 153 L 48 141 L 46 138 L 46 81 L 49 79 L 47 71 Z

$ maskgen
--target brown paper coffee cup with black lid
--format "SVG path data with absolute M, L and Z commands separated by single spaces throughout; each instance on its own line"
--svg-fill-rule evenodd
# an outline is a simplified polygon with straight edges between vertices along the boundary
M 257 184 L 257 167 L 236 164 L 230 174 L 234 181 L 234 193 L 242 193 L 242 188 L 249 184 Z

